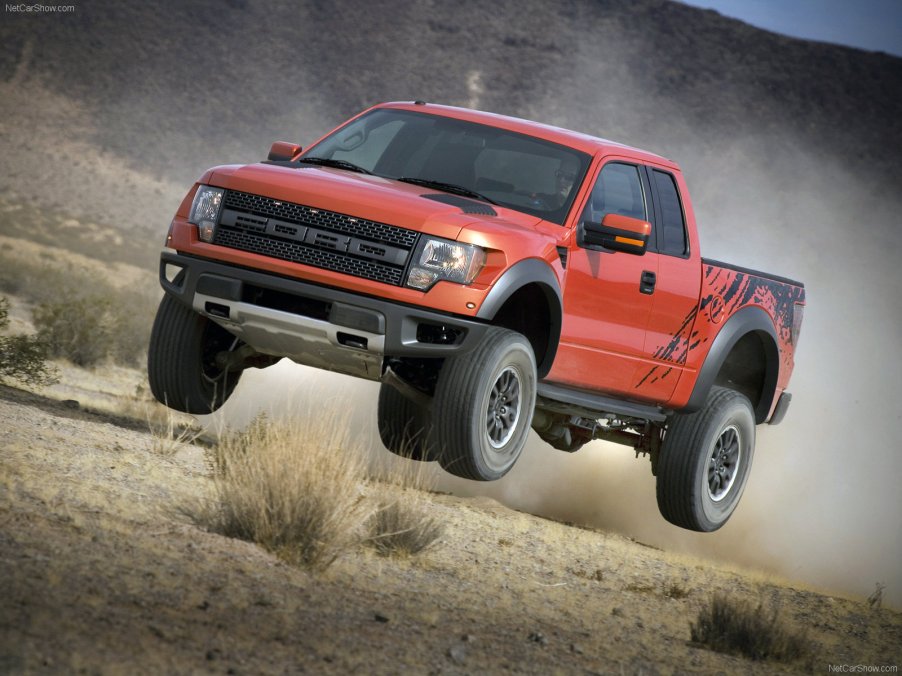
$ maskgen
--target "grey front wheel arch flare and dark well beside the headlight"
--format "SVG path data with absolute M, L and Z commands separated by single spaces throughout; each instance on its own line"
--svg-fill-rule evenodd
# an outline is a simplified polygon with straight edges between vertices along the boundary
M 538 377 L 543 378 L 557 354 L 562 314 L 557 275 L 545 261 L 530 258 L 501 275 L 476 316 L 526 336 L 536 357 Z

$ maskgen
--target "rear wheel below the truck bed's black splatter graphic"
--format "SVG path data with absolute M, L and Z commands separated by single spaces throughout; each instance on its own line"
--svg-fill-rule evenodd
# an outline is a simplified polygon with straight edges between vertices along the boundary
M 711 388 L 705 407 L 677 414 L 658 461 L 658 509 L 702 532 L 723 526 L 742 497 L 755 453 L 755 415 L 745 395 Z

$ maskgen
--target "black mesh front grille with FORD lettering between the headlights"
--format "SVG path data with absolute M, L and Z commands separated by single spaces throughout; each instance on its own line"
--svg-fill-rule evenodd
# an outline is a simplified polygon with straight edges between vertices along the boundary
M 418 233 L 227 191 L 214 244 L 400 286 Z

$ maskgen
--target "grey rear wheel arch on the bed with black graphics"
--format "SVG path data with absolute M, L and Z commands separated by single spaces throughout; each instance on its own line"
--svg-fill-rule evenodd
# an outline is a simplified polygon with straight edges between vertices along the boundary
M 736 390 L 752 403 L 755 422 L 767 420 L 780 373 L 773 321 L 759 307 L 745 307 L 720 330 L 699 371 L 686 411 L 702 408 L 715 385 Z

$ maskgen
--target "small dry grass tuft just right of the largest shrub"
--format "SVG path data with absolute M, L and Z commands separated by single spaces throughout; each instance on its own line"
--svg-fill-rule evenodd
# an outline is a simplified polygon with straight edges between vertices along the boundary
M 444 526 L 430 515 L 427 503 L 409 489 L 384 490 L 367 526 L 367 542 L 383 556 L 418 554 L 444 533 Z

